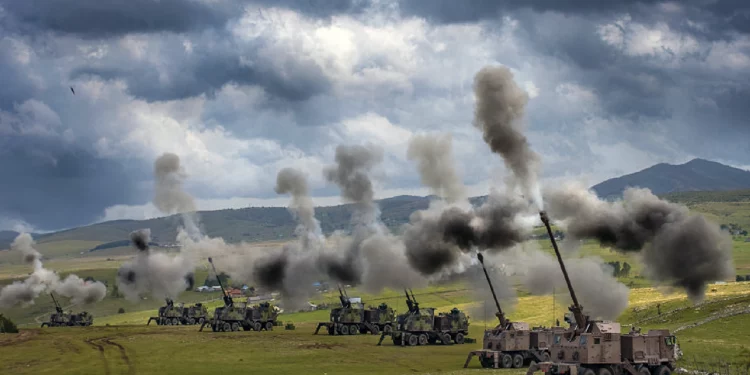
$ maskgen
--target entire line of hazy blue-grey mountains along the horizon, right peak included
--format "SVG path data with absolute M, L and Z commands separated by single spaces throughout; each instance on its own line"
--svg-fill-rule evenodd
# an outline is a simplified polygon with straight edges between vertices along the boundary
M 750 189 L 750 172 L 712 161 L 695 159 L 682 165 L 657 164 L 640 172 L 604 181 L 592 189 L 602 198 L 621 196 L 627 186 L 651 189 L 657 195 L 669 196 L 675 201 L 731 201 L 747 200 L 748 191 L 727 194 L 709 193 Z M 700 193 L 691 193 L 700 191 Z M 687 193 L 684 193 L 687 192 Z M 377 201 L 381 220 L 392 231 L 398 232 L 409 216 L 425 209 L 434 196 L 402 195 Z M 474 205 L 486 196 L 471 198 Z M 323 232 L 348 230 L 352 205 L 316 207 L 315 216 Z M 288 240 L 294 237 L 297 223 L 285 207 L 248 207 L 218 211 L 200 211 L 197 217 L 204 234 L 221 237 L 229 243 Z M 177 229 L 182 225 L 179 215 L 150 220 L 115 220 L 55 233 L 33 234 L 38 243 L 81 240 L 99 242 L 93 249 L 104 251 L 127 246 L 130 232 L 151 229 L 151 239 L 161 247 L 174 245 Z M 18 233 L 0 231 L 0 249 L 7 249 Z

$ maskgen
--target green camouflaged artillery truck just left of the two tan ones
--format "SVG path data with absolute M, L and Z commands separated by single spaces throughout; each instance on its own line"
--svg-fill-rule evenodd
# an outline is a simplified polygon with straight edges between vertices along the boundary
M 416 346 L 442 343 L 449 345 L 451 340 L 463 344 L 469 334 L 469 318 L 461 310 L 453 308 L 450 312 L 435 315 L 431 307 L 420 308 L 412 292 L 406 294 L 406 305 L 409 311 L 396 319 L 396 327 L 391 333 L 393 345 Z M 378 345 L 383 342 L 386 333 L 380 336 Z

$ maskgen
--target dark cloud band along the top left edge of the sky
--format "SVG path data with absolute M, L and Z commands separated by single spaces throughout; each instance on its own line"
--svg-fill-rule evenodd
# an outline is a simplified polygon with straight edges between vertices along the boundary
M 130 33 L 186 33 L 220 29 L 245 6 L 295 10 L 312 17 L 358 13 L 363 0 L 2 0 L 0 5 L 26 31 L 42 30 L 84 38 Z

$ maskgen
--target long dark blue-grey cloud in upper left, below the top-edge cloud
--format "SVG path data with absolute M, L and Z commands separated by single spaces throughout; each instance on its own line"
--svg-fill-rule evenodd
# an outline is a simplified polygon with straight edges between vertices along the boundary
M 227 83 L 260 86 L 271 100 L 283 103 L 305 101 L 330 89 L 318 65 L 291 51 L 263 57 L 258 53 L 261 41 L 239 46 L 223 33 L 204 34 L 195 38 L 195 43 L 193 50 L 187 51 L 180 40 L 167 38 L 159 43 L 164 48 L 159 48 L 163 59 L 158 63 L 123 64 L 123 58 L 131 57 L 114 55 L 73 69 L 70 78 L 122 79 L 130 94 L 147 101 L 212 96 Z

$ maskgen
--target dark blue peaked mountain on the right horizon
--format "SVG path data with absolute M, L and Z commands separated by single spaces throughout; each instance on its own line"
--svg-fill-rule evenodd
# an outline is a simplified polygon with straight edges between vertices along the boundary
M 721 163 L 693 159 L 685 164 L 656 164 L 642 171 L 609 179 L 591 187 L 602 199 L 622 196 L 626 187 L 649 188 L 656 195 L 689 191 L 728 191 L 750 188 L 750 172 Z

